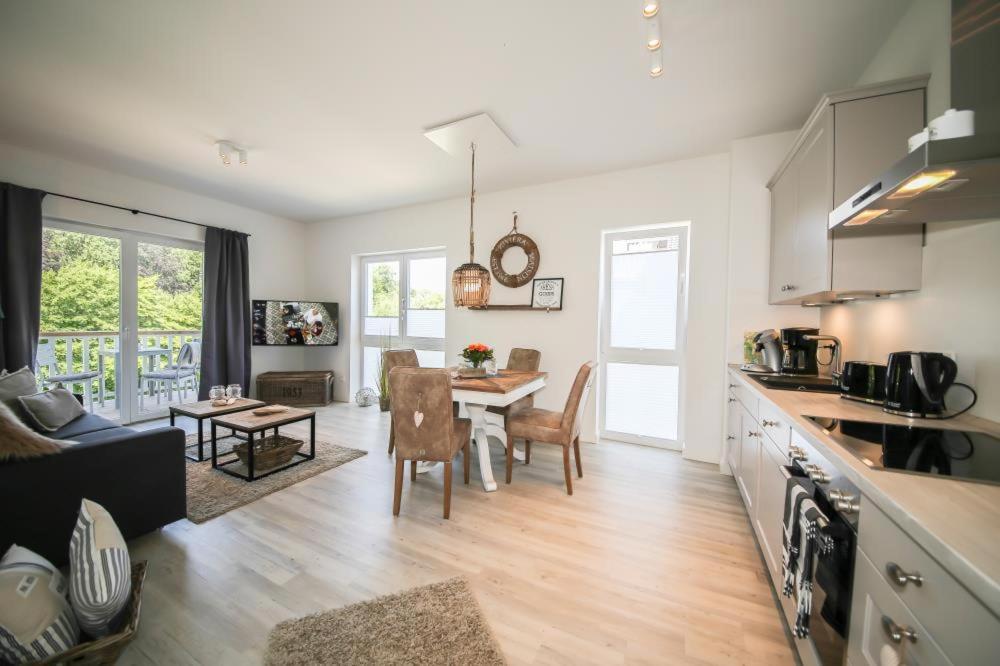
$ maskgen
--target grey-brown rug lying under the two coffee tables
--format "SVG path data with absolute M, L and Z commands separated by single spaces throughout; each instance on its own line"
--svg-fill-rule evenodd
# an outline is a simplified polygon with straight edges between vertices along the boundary
M 233 445 L 239 441 L 232 436 L 223 437 L 218 440 L 217 445 L 220 451 L 230 451 Z M 189 452 L 192 451 L 191 444 L 195 444 L 197 447 L 197 435 L 189 435 L 187 438 Z M 303 449 L 308 451 L 308 444 L 304 445 Z M 211 452 L 211 444 L 206 446 L 205 452 L 206 454 Z M 344 463 L 366 455 L 366 453 L 366 451 L 346 446 L 317 441 L 315 459 L 253 482 L 236 479 L 225 472 L 212 469 L 210 460 L 205 462 L 189 460 L 187 465 L 188 520 L 192 523 L 203 523 L 206 520 L 211 520 L 311 476 L 316 476 L 334 467 L 340 467 Z M 232 468 L 234 471 L 246 473 L 246 467 L 242 464 L 237 463 Z

